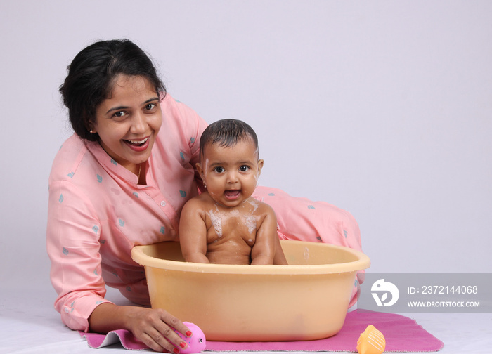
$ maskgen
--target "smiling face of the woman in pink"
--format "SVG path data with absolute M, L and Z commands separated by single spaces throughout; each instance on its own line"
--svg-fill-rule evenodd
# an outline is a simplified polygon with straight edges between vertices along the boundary
M 136 173 L 150 157 L 161 124 L 159 97 L 148 79 L 119 75 L 110 98 L 97 107 L 91 129 L 112 159 Z

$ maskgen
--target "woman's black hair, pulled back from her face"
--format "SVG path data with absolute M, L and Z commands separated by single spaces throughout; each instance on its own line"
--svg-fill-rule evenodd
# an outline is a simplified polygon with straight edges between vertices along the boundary
M 164 97 L 166 93 L 152 60 L 128 39 L 91 44 L 75 56 L 67 71 L 60 93 L 72 128 L 87 140 L 98 140 L 97 133 L 89 133 L 89 123 L 96 119 L 98 105 L 109 98 L 119 74 L 145 77 L 157 96 Z

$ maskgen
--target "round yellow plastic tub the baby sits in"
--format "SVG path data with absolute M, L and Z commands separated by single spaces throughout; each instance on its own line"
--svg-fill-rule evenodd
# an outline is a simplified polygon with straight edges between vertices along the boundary
M 212 341 L 302 341 L 337 334 L 358 270 L 369 257 L 347 247 L 282 241 L 289 265 L 183 261 L 178 242 L 136 246 L 153 308 L 193 322 Z

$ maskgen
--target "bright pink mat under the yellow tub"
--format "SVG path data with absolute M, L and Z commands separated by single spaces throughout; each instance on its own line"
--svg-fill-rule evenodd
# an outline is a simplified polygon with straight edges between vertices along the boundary
M 358 336 L 365 327 L 373 325 L 384 334 L 386 352 L 429 352 L 441 350 L 443 342 L 427 332 L 415 320 L 394 313 L 377 313 L 368 310 L 354 310 L 347 313 L 344 326 L 326 339 L 316 341 L 284 342 L 220 342 L 207 341 L 205 351 L 342 351 L 356 352 Z M 110 344 L 122 343 L 131 350 L 148 349 L 136 340 L 133 334 L 124 329 L 108 334 L 84 333 L 91 348 L 102 348 Z

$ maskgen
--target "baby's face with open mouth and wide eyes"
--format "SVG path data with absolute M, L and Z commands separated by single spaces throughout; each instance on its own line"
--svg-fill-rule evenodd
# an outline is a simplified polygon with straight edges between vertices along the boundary
M 233 207 L 251 197 L 262 167 L 263 160 L 258 160 L 257 148 L 248 139 L 231 147 L 206 145 L 198 171 L 215 202 Z

